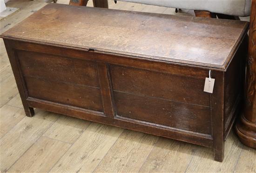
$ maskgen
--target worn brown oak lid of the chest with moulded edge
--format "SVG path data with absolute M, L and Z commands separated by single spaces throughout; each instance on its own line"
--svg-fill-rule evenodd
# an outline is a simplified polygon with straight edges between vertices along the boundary
M 248 22 L 48 4 L 1 35 L 225 71 Z

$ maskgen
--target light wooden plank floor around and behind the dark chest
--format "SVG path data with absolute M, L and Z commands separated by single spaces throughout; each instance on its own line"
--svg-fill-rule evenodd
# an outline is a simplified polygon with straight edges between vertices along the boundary
M 68 0 L 58 0 L 68 4 Z M 10 0 L 20 10 L 0 21 L 1 33 L 41 7 L 46 0 Z M 92 6 L 89 0 L 88 6 Z M 109 1 L 109 8 L 174 14 L 175 9 Z M 188 11 L 182 15 L 191 15 Z M 111 127 L 35 109 L 26 117 L 0 39 L 1 172 L 256 172 L 256 150 L 233 131 L 222 163 L 210 148 Z

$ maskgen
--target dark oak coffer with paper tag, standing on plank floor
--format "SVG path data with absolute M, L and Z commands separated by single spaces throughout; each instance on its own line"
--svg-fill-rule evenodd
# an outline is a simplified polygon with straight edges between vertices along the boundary
M 34 108 L 214 150 L 243 101 L 238 20 L 48 4 L 1 35 L 27 116 Z

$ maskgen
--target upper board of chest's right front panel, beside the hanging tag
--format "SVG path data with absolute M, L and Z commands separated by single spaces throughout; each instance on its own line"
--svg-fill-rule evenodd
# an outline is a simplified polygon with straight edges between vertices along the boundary
M 204 80 L 111 65 L 113 90 L 209 106 Z

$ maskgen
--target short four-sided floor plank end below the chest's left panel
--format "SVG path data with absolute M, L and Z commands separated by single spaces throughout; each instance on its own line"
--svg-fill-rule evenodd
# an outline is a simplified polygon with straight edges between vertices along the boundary
M 74 143 L 91 122 L 61 115 L 43 136 L 59 141 Z

